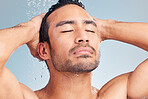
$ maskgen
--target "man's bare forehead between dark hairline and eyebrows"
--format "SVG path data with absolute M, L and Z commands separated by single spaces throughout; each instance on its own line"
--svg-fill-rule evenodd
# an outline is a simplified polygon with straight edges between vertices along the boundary
M 54 11 L 47 18 L 47 23 L 50 23 L 50 26 L 54 26 L 58 22 L 64 20 L 82 21 L 88 19 L 93 20 L 92 17 L 83 8 L 74 4 L 69 4 Z

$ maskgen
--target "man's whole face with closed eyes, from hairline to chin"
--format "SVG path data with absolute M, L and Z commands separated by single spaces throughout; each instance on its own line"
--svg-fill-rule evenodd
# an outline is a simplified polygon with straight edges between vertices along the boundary
M 83 73 L 99 64 L 100 39 L 92 17 L 77 5 L 54 11 L 49 23 L 50 55 L 59 72 Z

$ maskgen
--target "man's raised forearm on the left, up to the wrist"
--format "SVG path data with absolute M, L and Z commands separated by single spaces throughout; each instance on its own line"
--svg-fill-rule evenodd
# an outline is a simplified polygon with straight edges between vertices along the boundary
M 26 23 L 19 24 L 15 27 L 0 30 L 0 67 L 7 62 L 9 56 L 19 46 L 27 43 L 31 38 L 29 32 L 33 32 L 33 27 L 27 26 Z M 28 37 L 28 38 L 27 38 Z

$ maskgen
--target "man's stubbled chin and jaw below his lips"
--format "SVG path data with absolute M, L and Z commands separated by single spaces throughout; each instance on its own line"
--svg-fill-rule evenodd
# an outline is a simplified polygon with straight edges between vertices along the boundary
M 96 59 L 96 57 L 93 58 L 88 55 L 78 56 L 75 59 L 61 60 L 53 62 L 55 69 L 59 72 L 89 73 L 99 65 L 99 58 Z

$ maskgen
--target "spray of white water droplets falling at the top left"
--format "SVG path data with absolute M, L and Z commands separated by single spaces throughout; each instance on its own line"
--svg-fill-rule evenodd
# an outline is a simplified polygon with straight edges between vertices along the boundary
M 51 5 L 57 0 L 27 0 L 28 10 L 26 12 L 28 19 L 41 13 L 46 13 Z

